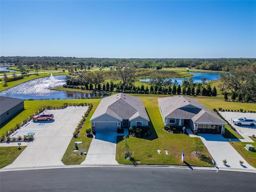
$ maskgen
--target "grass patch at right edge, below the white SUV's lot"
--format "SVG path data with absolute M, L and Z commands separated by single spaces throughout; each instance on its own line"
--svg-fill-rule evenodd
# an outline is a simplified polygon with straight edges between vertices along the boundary
M 253 167 L 256 168 L 256 152 L 246 150 L 246 144 L 252 144 L 256 147 L 256 139 L 251 138 L 254 143 L 247 143 L 247 142 L 229 142 L 235 150 Z

